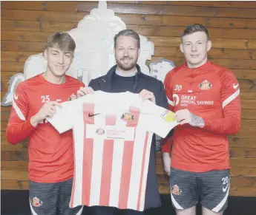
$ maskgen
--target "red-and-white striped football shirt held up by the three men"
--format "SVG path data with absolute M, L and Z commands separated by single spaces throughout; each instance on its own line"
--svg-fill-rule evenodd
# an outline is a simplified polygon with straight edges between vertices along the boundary
M 75 172 L 70 207 L 102 205 L 143 211 L 153 132 L 165 137 L 173 113 L 131 92 L 92 95 L 62 103 L 49 119 L 59 132 L 73 128 Z

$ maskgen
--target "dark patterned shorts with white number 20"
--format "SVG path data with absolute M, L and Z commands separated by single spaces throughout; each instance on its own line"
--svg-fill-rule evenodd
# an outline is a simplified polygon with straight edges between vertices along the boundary
M 200 197 L 204 208 L 214 212 L 225 211 L 228 206 L 230 171 L 182 171 L 171 168 L 171 202 L 176 209 L 197 205 Z

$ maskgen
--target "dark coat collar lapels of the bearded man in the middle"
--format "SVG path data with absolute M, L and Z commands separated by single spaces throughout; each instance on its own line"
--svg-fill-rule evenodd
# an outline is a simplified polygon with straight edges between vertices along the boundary
M 105 89 L 107 91 L 111 91 L 111 85 L 112 85 L 112 77 L 114 75 L 114 72 L 116 72 L 116 67 L 117 65 L 114 65 L 111 67 L 111 69 L 109 69 L 108 73 L 106 75 L 104 75 L 100 82 L 100 85 L 102 85 L 102 89 Z M 136 68 L 137 68 L 137 72 L 135 75 L 135 83 L 134 83 L 134 91 L 140 81 L 140 77 L 142 75 L 142 72 L 140 70 L 140 66 L 138 64 L 136 64 Z

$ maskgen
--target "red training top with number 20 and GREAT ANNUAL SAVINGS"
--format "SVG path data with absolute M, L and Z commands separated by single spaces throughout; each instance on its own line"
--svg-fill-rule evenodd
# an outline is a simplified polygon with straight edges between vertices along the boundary
M 194 69 L 185 64 L 168 72 L 165 92 L 171 111 L 188 109 L 206 123 L 203 129 L 189 124 L 175 128 L 171 166 L 194 172 L 230 168 L 227 135 L 240 129 L 240 89 L 234 74 L 210 61 Z M 170 145 L 163 151 L 170 151 Z

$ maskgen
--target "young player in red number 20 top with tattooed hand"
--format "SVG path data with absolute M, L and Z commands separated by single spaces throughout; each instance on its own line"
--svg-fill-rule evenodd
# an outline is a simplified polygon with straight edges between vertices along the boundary
M 171 201 L 177 215 L 195 215 L 200 197 L 203 215 L 223 214 L 230 187 L 228 134 L 240 129 L 240 89 L 234 74 L 207 60 L 208 30 L 191 24 L 180 50 L 186 64 L 165 77 L 169 108 L 180 123 L 163 146 L 170 174 Z M 171 165 L 171 172 L 170 172 Z

